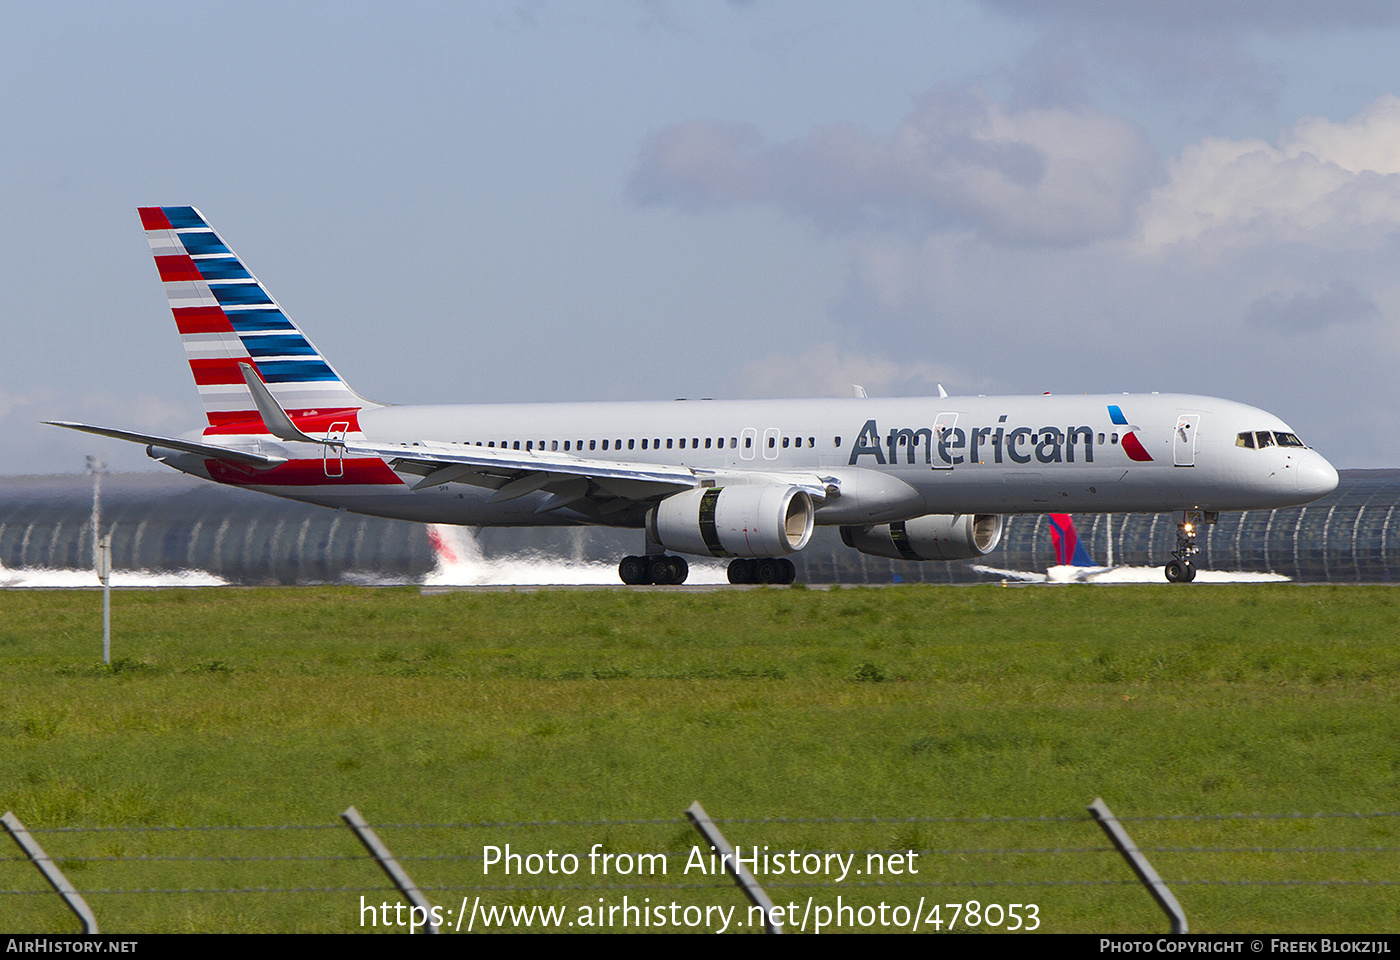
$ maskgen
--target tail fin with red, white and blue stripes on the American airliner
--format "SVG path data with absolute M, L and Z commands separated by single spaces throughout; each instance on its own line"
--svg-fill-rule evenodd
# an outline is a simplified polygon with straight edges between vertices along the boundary
M 379 406 L 350 389 L 199 210 L 141 207 L 140 214 L 204 402 L 206 435 L 267 432 L 239 362 L 258 369 L 307 432 Z

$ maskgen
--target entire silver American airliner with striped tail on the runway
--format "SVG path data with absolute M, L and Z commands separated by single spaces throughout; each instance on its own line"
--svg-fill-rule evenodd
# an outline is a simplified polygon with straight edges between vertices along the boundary
M 643 532 L 624 584 L 693 557 L 784 584 L 816 525 L 896 560 L 973 560 L 1008 514 L 1172 512 L 1166 579 L 1221 511 L 1305 504 L 1337 472 L 1278 417 L 1204 396 L 939 396 L 395 406 L 356 393 L 195 207 L 143 207 L 207 425 L 133 441 L 176 470 L 332 508 Z

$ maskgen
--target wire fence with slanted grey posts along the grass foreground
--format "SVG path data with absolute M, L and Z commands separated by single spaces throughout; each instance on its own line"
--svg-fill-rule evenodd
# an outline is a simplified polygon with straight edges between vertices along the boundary
M 448 932 L 1163 931 L 1149 891 L 1163 908 L 1175 891 L 1197 931 L 1383 931 L 1400 915 L 1400 812 L 1113 817 L 1096 806 L 718 819 L 713 835 L 696 830 L 708 820 L 699 805 L 689 820 L 365 824 L 426 897 L 417 911 L 346 824 L 29 828 L 32 847 L 0 858 L 0 926 L 77 926 L 59 883 L 35 869 L 48 858 L 102 932 L 407 932 L 424 919 Z M 1133 870 L 1106 820 L 1137 841 Z M 766 900 L 735 889 L 735 866 Z

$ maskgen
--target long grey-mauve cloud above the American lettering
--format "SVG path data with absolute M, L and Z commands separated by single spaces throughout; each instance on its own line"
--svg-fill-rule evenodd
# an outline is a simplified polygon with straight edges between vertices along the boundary
M 1126 231 L 1155 174 L 1152 148 L 1123 118 L 942 91 L 883 137 L 833 126 L 770 143 L 750 125 L 676 125 L 643 147 L 629 189 L 638 203 L 690 210 L 769 203 L 827 230 L 1072 245 Z

